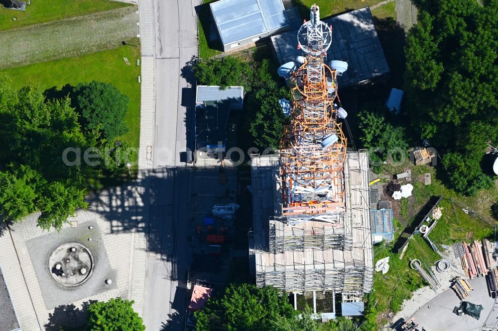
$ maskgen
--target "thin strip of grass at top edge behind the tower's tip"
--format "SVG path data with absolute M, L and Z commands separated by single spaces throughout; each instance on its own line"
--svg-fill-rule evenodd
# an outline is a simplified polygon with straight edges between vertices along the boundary
M 313 3 L 320 7 L 320 17 L 328 17 L 349 9 L 360 9 L 372 6 L 382 0 L 292 0 L 294 6 L 299 9 L 302 18 L 309 19 L 310 7 Z

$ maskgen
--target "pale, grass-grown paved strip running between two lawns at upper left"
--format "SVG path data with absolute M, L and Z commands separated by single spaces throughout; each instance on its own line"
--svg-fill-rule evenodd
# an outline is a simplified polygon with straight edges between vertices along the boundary
M 137 6 L 0 32 L 0 69 L 118 47 L 138 34 Z

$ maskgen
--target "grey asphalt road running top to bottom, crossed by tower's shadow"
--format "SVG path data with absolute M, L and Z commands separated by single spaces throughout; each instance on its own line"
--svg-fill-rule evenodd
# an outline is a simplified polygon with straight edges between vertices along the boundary
M 143 320 L 147 330 L 180 330 L 190 258 L 188 221 L 192 171 L 180 162 L 193 137 L 193 88 L 182 68 L 197 55 L 198 0 L 154 0 L 154 173 L 147 240 Z

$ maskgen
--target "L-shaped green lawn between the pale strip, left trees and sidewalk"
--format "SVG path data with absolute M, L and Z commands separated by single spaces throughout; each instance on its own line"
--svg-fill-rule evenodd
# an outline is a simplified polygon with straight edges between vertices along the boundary
M 138 40 L 134 40 L 133 44 L 138 45 Z M 139 56 L 139 47 L 122 46 L 72 58 L 9 68 L 2 72 L 10 77 L 16 88 L 33 83 L 46 89 L 52 86 L 60 89 L 68 83 L 76 85 L 93 80 L 114 84 L 130 100 L 125 118 L 129 132 L 121 138 L 138 147 L 140 84 L 137 82 L 137 76 L 140 75 L 140 67 L 136 65 L 136 60 Z M 123 57 L 128 58 L 130 66 L 125 65 Z

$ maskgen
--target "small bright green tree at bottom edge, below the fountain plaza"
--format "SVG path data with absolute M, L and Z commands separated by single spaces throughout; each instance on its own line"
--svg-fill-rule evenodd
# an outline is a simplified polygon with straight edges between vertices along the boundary
M 143 331 L 142 318 L 133 310 L 133 301 L 121 298 L 95 302 L 88 307 L 86 331 Z

